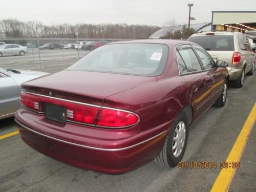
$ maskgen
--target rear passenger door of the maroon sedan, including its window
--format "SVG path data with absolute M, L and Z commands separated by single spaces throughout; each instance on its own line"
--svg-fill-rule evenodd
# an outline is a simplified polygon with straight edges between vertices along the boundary
M 212 78 L 204 71 L 195 51 L 189 45 L 177 47 L 177 57 L 181 77 L 189 90 L 189 101 L 194 106 L 195 118 L 200 117 L 210 106 Z

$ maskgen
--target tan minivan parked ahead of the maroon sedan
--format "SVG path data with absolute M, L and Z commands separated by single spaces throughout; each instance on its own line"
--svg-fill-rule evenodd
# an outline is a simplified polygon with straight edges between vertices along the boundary
M 202 32 L 191 35 L 188 41 L 202 46 L 214 59 L 228 63 L 229 80 L 241 88 L 244 76 L 253 75 L 255 55 L 248 38 L 240 32 Z

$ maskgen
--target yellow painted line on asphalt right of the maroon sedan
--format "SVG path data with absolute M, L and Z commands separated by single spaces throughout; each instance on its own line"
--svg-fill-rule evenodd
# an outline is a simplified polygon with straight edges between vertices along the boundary
M 246 119 L 244 126 L 234 143 L 232 150 L 230 151 L 226 162 L 238 162 L 244 151 L 244 147 L 252 130 L 256 119 L 256 103 L 254 104 L 248 118 Z M 234 173 L 236 173 L 236 168 L 223 168 L 216 179 L 214 185 L 211 188 L 211 192 L 222 192 L 228 191 L 229 185 L 233 179 Z

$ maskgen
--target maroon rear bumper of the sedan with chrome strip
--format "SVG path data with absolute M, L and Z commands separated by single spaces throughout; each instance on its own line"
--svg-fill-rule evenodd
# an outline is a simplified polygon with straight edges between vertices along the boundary
M 26 113 L 25 110 L 19 110 L 15 114 L 20 136 L 25 143 L 59 161 L 106 174 L 125 173 L 153 160 L 160 152 L 170 127 L 170 123 L 165 123 L 153 130 L 123 138 L 118 138 L 122 135 L 122 130 L 109 130 L 108 139 L 105 134 L 100 133 L 101 129 L 95 127 L 91 135 L 77 136 L 57 132 L 54 125 L 40 122 L 42 117 L 30 117 L 31 113 Z M 68 128 L 77 129 L 78 126 L 80 125 L 70 123 Z M 80 128 L 92 129 L 85 126 Z M 99 137 L 100 135 L 102 136 Z

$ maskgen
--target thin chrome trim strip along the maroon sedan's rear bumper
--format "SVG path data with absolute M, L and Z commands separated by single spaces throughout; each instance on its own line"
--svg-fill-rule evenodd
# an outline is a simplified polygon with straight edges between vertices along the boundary
M 37 131 L 34 131 L 30 128 L 28 128 L 27 126 L 23 125 L 22 123 L 19 123 L 16 119 L 15 119 L 16 123 L 18 123 L 20 126 L 26 128 L 27 130 L 33 132 L 33 133 L 36 133 L 40 136 L 44 136 L 44 137 L 47 137 L 49 139 L 53 139 L 53 140 L 56 140 L 56 141 L 59 141 L 59 142 L 62 142 L 62 143 L 66 143 L 66 144 L 71 144 L 71 145 L 74 145 L 74 146 L 79 146 L 79 147 L 83 147 L 83 148 L 89 148 L 90 150 L 98 150 L 98 151 L 108 151 L 108 152 L 116 152 L 116 151 L 122 151 L 122 150 L 127 150 L 129 148 L 133 148 L 135 146 L 138 146 L 142 143 L 145 143 L 147 141 L 150 141 L 152 139 L 155 139 L 156 137 L 164 134 L 165 132 L 167 132 L 167 130 L 163 131 L 162 133 L 159 133 L 157 135 L 155 135 L 154 137 L 151 137 L 149 139 L 146 139 L 144 141 L 141 141 L 139 143 L 136 143 L 134 145 L 130 145 L 130 146 L 127 146 L 127 147 L 123 147 L 123 148 L 99 148 L 99 147 L 93 147 L 93 146 L 87 146 L 87 145 L 82 145 L 82 144 L 77 144 L 77 143 L 72 143 L 72 142 L 69 142 L 69 141 L 64 141 L 64 140 L 61 140 L 61 139 L 57 139 L 57 138 L 54 138 L 54 137 L 51 137 L 51 136 L 48 136 L 48 135 L 45 135 L 45 134 L 42 134 L 42 133 L 39 133 Z

